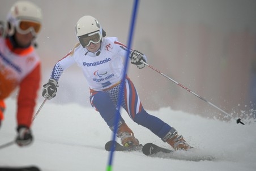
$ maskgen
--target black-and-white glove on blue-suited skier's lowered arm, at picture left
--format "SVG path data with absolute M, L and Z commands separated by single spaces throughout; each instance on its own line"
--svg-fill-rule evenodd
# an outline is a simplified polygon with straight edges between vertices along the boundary
M 56 96 L 58 82 L 54 79 L 49 79 L 49 82 L 44 84 L 42 96 L 48 100 Z

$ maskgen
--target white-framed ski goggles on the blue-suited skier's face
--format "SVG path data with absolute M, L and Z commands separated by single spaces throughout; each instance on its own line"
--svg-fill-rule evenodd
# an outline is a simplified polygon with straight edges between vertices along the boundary
M 86 46 L 89 46 L 91 42 L 93 44 L 97 44 L 101 40 L 100 31 L 89 33 L 87 35 L 79 36 L 78 37 L 80 44 L 86 48 Z

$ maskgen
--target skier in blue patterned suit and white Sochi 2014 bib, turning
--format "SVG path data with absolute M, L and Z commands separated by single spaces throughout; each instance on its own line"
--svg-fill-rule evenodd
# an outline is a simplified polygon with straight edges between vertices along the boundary
M 76 23 L 75 31 L 79 40 L 78 44 L 53 67 L 49 82 L 43 86 L 42 96 L 46 99 L 55 97 L 62 72 L 77 63 L 82 68 L 89 85 L 89 98 L 92 107 L 100 113 L 113 131 L 115 114 L 118 113 L 117 99 L 123 73 L 122 58 L 128 51 L 131 63 L 139 69 L 144 67 L 144 63 L 141 61 L 146 62 L 147 58 L 137 50 L 127 49 L 125 45 L 118 42 L 117 37 L 105 37 L 104 29 L 92 16 L 87 15 L 80 18 Z M 134 84 L 128 76 L 125 78 L 123 94 L 122 108 L 134 122 L 150 129 L 174 149 L 191 148 L 173 127 L 144 110 Z M 133 131 L 121 116 L 120 118 L 117 137 L 121 139 L 123 146 L 130 148 L 140 146 Z

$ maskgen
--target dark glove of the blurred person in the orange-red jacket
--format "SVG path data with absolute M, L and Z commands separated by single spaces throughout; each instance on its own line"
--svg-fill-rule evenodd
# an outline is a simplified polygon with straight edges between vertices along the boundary
M 31 130 L 29 130 L 26 126 L 18 126 L 18 135 L 16 137 L 15 142 L 18 146 L 28 146 L 33 141 L 33 136 L 31 134 Z

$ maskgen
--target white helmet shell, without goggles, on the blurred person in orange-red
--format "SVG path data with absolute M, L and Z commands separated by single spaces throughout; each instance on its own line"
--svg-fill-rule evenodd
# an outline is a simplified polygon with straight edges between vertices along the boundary
M 37 25 L 37 29 L 34 30 L 36 33 L 38 33 L 40 31 L 42 22 L 41 8 L 28 1 L 18 1 L 14 3 L 7 15 L 7 33 L 9 36 L 14 34 L 15 28 L 19 27 L 20 21 L 35 22 L 39 24 Z

